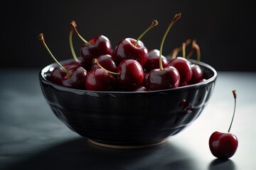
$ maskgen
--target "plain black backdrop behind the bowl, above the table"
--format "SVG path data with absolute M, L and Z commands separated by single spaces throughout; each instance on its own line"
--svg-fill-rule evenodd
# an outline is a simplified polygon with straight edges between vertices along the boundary
M 2 7 L 7 12 L 1 12 L 0 67 L 41 68 L 53 62 L 38 40 L 39 33 L 57 60 L 72 57 L 68 42 L 72 20 L 86 40 L 101 34 L 114 47 L 122 38 L 137 39 L 156 19 L 159 25 L 142 41 L 159 49 L 166 28 L 181 12 L 167 35 L 164 55 L 193 38 L 201 47 L 201 61 L 215 69 L 256 71 L 254 1 L 8 1 Z M 79 55 L 82 41 L 74 35 L 73 42 Z

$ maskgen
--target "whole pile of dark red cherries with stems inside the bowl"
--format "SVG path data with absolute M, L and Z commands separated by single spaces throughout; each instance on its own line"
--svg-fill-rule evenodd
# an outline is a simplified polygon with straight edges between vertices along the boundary
M 143 35 L 158 24 L 156 20 L 137 40 L 124 38 L 114 48 L 105 35 L 97 35 L 86 41 L 78 33 L 75 21 L 72 21 L 69 40 L 74 62 L 65 65 L 61 65 L 53 57 L 41 33 L 38 38 L 59 66 L 50 73 L 49 80 L 60 86 L 90 91 L 155 91 L 204 81 L 201 67 L 187 60 L 194 51 L 197 52 L 198 61 L 200 60 L 196 40 L 183 42 L 181 47 L 173 50 L 170 59 L 161 54 L 166 35 L 178 18 L 181 18 L 181 13 L 176 14 L 171 21 L 161 41 L 160 50 L 149 50 L 141 41 Z M 84 42 L 80 47 L 79 60 L 73 48 L 74 30 Z M 191 52 L 186 56 L 185 48 L 190 42 Z M 181 51 L 183 57 L 176 57 Z

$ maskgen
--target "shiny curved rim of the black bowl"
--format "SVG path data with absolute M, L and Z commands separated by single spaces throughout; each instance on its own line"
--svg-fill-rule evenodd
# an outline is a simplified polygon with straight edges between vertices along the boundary
M 80 57 L 78 57 L 78 59 L 80 59 Z M 41 81 L 41 83 L 43 84 L 48 84 L 53 86 L 55 89 L 58 89 L 60 91 L 67 91 L 67 92 L 71 92 L 71 93 L 76 93 L 76 94 L 85 94 L 85 93 L 95 93 L 95 94 L 154 94 L 154 93 L 159 93 L 159 92 L 166 92 L 166 91 L 179 91 L 179 90 L 183 90 L 183 89 L 197 89 L 198 86 L 206 86 L 207 84 L 215 81 L 215 79 L 217 79 L 217 71 L 211 67 L 209 64 L 206 64 L 205 62 L 199 62 L 197 60 L 193 60 L 193 59 L 188 59 L 190 62 L 192 62 L 193 64 L 199 64 L 200 66 L 206 67 L 208 69 L 210 69 L 211 72 L 213 72 L 213 76 L 210 77 L 209 79 L 206 79 L 206 81 L 202 81 L 200 83 L 197 84 L 191 84 L 188 86 L 180 86 L 176 89 L 163 89 L 163 90 L 156 90 L 156 91 L 90 91 L 90 90 L 86 90 L 86 89 L 73 89 L 70 87 L 65 87 L 65 86 L 60 86 L 58 84 L 54 84 L 53 82 L 49 81 L 48 79 L 46 79 L 47 77 L 47 73 L 50 72 L 50 68 L 53 68 L 55 66 L 57 66 L 58 64 L 56 62 L 53 62 L 51 64 L 48 64 L 46 67 L 43 67 L 42 69 L 40 69 L 39 71 L 39 80 Z M 67 64 L 68 62 L 73 62 L 73 59 L 66 59 L 66 60 L 62 60 L 60 61 L 60 64 Z

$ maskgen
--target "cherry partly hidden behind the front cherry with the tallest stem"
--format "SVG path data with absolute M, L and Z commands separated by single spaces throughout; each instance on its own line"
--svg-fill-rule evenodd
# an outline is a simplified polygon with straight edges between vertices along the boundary
M 176 57 L 173 60 L 169 61 L 168 66 L 175 67 L 178 69 L 180 74 L 181 84 L 188 82 L 192 77 L 191 64 L 183 57 Z

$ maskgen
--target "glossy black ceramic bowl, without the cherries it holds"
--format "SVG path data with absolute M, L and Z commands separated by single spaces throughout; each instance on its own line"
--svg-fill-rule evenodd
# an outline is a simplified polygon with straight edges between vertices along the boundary
M 207 105 L 217 72 L 208 64 L 198 64 L 206 81 L 160 91 L 106 92 L 58 86 L 48 80 L 55 63 L 41 69 L 39 80 L 53 113 L 82 137 L 107 147 L 145 147 L 176 135 Z

